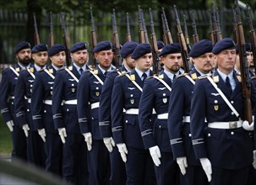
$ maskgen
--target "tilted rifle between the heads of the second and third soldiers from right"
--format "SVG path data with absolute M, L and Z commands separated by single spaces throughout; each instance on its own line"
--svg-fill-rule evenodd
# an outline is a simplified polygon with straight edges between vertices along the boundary
M 182 27 L 181 27 L 181 23 L 180 23 L 180 20 L 178 18 L 178 15 L 177 15 L 176 5 L 173 5 L 173 8 L 174 8 L 174 11 L 175 11 L 178 40 L 179 40 L 180 45 L 182 46 L 183 67 L 184 67 L 184 71 L 185 72 L 189 72 L 189 67 L 188 67 L 188 64 L 189 64 L 188 48 L 187 48 L 187 45 L 186 45 L 186 41 L 185 41 L 184 35 L 182 33 Z

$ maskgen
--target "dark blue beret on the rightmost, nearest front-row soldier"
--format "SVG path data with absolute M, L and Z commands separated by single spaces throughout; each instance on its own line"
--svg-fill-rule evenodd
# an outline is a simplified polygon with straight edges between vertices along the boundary
M 225 38 L 219 40 L 212 49 L 213 54 L 218 54 L 221 50 L 231 50 L 235 49 L 235 42 L 231 38 Z

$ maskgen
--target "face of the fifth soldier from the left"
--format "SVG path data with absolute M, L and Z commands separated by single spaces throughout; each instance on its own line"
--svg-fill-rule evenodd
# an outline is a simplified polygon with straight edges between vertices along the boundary
M 107 70 L 112 64 L 114 53 L 112 50 L 101 50 L 95 53 L 95 59 L 99 62 L 102 69 Z

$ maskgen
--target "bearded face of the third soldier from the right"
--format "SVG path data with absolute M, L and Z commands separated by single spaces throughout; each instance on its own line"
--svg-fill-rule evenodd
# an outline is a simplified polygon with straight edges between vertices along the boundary
M 182 54 L 172 53 L 162 56 L 161 61 L 165 65 L 166 71 L 172 71 L 176 73 L 182 66 Z

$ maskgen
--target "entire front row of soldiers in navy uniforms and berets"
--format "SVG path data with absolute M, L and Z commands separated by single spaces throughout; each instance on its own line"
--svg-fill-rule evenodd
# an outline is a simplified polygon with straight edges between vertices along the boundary
M 70 49 L 72 66 L 63 67 L 64 50 L 53 45 L 52 65 L 45 66 L 46 45 L 35 45 L 33 68 L 20 75 L 18 67 L 3 72 L 1 112 L 14 129 L 14 155 L 20 151 L 30 163 L 45 162 L 47 172 L 74 184 L 247 184 L 253 142 L 245 129 L 253 124 L 242 122 L 231 39 L 214 47 L 210 40 L 193 45 L 188 74 L 180 72 L 178 44 L 161 50 L 164 69 L 155 76 L 149 44 L 124 44 L 120 70 L 112 67 L 109 41 L 95 46 L 99 64 L 93 70 L 86 65 L 86 43 Z M 19 66 L 30 67 L 29 43 L 17 45 L 15 53 Z

